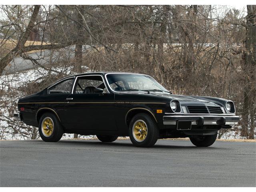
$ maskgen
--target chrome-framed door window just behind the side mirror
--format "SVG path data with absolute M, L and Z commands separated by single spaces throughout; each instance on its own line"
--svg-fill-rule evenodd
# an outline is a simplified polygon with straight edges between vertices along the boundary
M 107 93 L 105 84 L 101 76 L 82 76 L 76 80 L 75 94 L 92 94 L 95 88 L 103 89 Z

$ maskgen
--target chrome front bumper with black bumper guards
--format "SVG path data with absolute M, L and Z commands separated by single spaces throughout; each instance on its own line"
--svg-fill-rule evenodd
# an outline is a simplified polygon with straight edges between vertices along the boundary
M 163 117 L 164 125 L 177 125 L 178 121 L 191 121 L 191 125 L 237 125 L 239 116 L 228 115 L 170 115 Z

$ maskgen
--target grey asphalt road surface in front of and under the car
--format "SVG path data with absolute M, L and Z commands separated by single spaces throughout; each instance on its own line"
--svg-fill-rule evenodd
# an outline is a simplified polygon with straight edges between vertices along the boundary
M 0 186 L 256 186 L 256 143 L 0 142 Z

